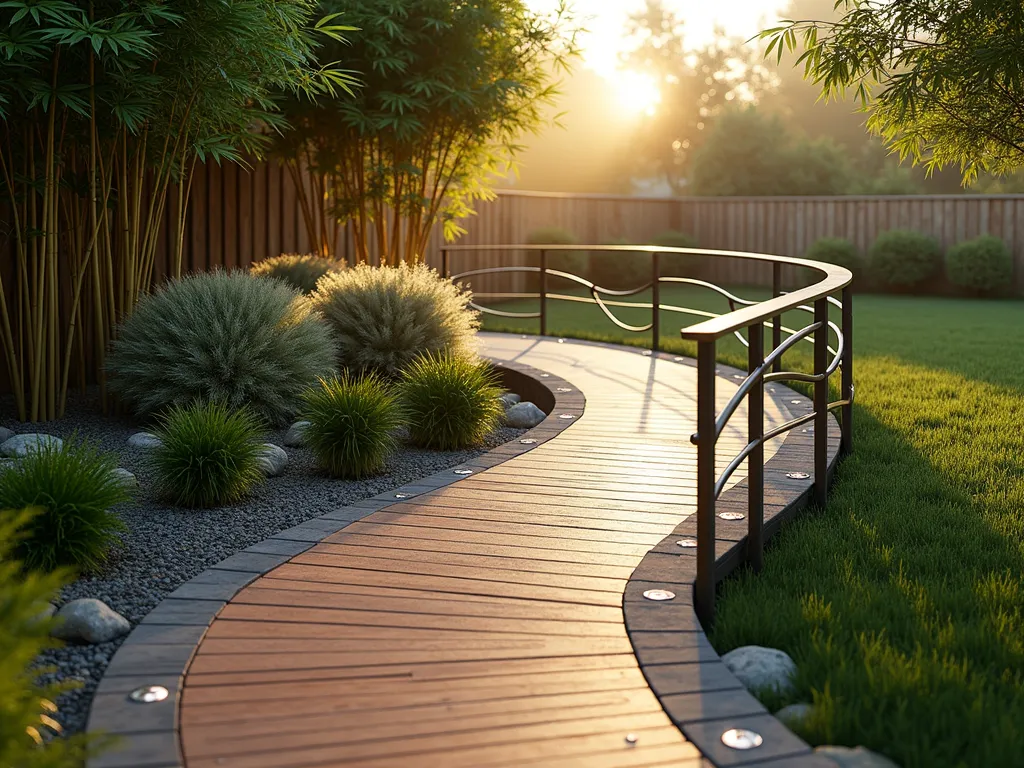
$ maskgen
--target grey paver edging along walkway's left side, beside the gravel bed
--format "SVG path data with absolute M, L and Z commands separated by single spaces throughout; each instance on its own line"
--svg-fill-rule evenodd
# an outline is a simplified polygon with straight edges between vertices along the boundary
M 521 390 L 524 399 L 536 398 L 548 417 L 522 437 L 471 461 L 279 531 L 174 590 L 132 630 L 96 687 L 86 731 L 114 734 L 119 743 L 90 759 L 88 768 L 181 768 L 178 699 L 185 672 L 214 617 L 248 584 L 349 523 L 395 504 L 396 494 L 414 497 L 451 485 L 463 479 L 456 469 L 476 472 L 495 467 L 556 437 L 583 415 L 586 397 L 566 380 L 521 362 L 493 361 L 501 369 L 505 386 Z M 560 414 L 575 418 L 559 419 Z M 526 437 L 537 442 L 519 442 Z M 162 685 L 169 695 L 153 703 L 132 701 L 131 691 L 145 685 Z

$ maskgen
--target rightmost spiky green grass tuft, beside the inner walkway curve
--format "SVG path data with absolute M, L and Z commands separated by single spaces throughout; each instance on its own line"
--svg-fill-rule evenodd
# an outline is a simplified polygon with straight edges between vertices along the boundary
M 482 360 L 425 354 L 398 385 L 415 445 L 458 451 L 483 441 L 504 409 L 495 370 Z

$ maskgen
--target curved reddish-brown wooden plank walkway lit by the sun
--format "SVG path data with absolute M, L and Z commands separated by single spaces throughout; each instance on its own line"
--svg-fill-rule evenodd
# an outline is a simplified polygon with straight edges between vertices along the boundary
M 484 351 L 572 390 L 539 444 L 351 518 L 229 600 L 184 679 L 188 768 L 711 764 L 648 687 L 622 609 L 634 567 L 693 512 L 695 370 L 516 336 Z M 741 442 L 723 436 L 723 455 Z

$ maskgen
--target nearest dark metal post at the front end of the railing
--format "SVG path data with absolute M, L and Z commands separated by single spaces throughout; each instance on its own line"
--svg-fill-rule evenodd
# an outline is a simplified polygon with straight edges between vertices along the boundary
M 715 340 L 697 342 L 697 579 L 694 607 L 715 621 Z

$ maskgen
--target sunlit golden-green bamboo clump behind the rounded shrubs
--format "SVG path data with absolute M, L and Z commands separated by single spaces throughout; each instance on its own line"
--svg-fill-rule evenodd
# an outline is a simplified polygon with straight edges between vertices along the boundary
M 351 222 L 356 261 L 416 262 L 440 222 L 444 236 L 524 133 L 544 125 L 553 73 L 577 53 L 564 6 L 551 17 L 521 0 L 326 0 L 359 30 L 323 60 L 359 73 L 355 98 L 293 100 L 296 130 L 278 145 L 299 191 L 310 240 L 335 250 L 337 222 Z M 308 180 L 307 180 L 308 174 Z

